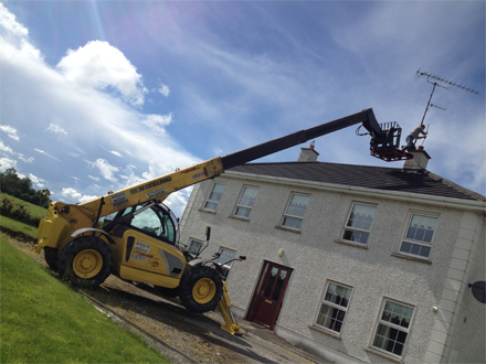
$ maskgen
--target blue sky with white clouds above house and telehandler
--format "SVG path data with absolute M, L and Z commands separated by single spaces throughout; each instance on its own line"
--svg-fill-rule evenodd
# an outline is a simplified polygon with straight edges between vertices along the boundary
M 404 143 L 433 87 L 419 69 L 479 93 L 436 87 L 423 146 L 485 195 L 484 1 L 3 1 L 0 170 L 77 203 L 366 108 Z M 403 165 L 355 130 L 318 160 Z M 179 217 L 190 192 L 166 200 Z

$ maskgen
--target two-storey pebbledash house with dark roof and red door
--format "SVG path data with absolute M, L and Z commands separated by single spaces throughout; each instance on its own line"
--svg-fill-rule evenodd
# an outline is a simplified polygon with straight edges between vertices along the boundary
M 236 317 L 336 363 L 484 363 L 485 197 L 426 170 L 247 163 L 194 186 L 180 242 L 226 268 Z M 402 162 L 400 162 L 402 163 Z

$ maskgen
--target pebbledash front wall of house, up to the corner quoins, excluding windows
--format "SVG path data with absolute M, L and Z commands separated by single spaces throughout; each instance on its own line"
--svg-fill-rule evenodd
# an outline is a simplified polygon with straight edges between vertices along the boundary
M 443 293 L 463 212 L 424 205 L 413 199 L 398 202 L 228 175 L 218 178 L 216 182 L 225 184 L 216 213 L 200 211 L 213 185 L 207 181 L 194 189 L 193 206 L 186 211 L 182 220 L 181 242 L 202 239 L 204 227 L 209 225 L 213 229 L 204 256 L 210 257 L 223 246 L 249 257 L 233 265 L 228 280 L 236 313 L 246 312 L 263 260 L 275 261 L 294 268 L 277 323 L 296 342 L 310 341 L 329 347 L 329 353 L 340 352 L 364 362 L 387 362 L 383 356 L 366 350 L 385 297 L 415 307 L 403 358 L 423 362 L 436 315 L 432 307 L 439 306 Z M 243 184 L 260 189 L 249 222 L 230 217 Z M 300 233 L 275 228 L 292 192 L 310 194 Z M 341 236 L 353 201 L 378 205 L 368 249 L 335 242 Z M 432 264 L 392 256 L 399 249 L 412 211 L 439 216 Z M 284 255 L 278 257 L 281 248 Z M 316 320 L 327 279 L 353 287 L 340 339 L 309 329 Z

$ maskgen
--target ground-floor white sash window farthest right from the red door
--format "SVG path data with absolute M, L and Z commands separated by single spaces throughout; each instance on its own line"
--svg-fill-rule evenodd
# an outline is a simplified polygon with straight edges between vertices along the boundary
M 374 332 L 372 347 L 401 356 L 412 321 L 413 307 L 385 299 Z

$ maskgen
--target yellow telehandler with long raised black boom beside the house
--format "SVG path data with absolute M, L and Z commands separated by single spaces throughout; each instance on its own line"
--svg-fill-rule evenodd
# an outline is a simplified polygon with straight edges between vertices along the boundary
M 401 129 L 382 129 L 373 110 L 366 109 L 222 158 L 177 169 L 85 203 L 51 202 L 39 225 L 35 249 L 38 253 L 44 249 L 47 265 L 77 286 L 98 286 L 110 274 L 152 285 L 161 295 L 179 296 L 190 311 L 203 313 L 218 307 L 226 323 L 222 329 L 239 332 L 221 264 L 178 248 L 181 245 L 177 221 L 162 204 L 163 200 L 175 191 L 213 179 L 232 167 L 360 122 L 371 135 L 372 156 L 384 160 L 387 156 L 410 158 L 398 150 Z

